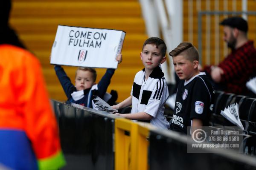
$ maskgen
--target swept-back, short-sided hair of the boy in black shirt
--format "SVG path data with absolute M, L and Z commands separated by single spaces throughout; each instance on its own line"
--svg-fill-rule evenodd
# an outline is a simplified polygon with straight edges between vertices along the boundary
M 194 60 L 199 61 L 198 50 L 192 45 L 191 42 L 183 41 L 174 50 L 169 52 L 169 55 L 175 57 L 177 55 L 184 55 L 184 57 L 191 62 Z

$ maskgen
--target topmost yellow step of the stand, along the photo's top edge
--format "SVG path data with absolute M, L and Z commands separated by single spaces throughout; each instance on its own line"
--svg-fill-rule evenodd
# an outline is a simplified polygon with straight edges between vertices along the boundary
M 44 17 L 140 17 L 140 3 L 134 2 L 15 2 L 11 17 L 44 18 Z M 131 12 L 133 11 L 133 12 Z

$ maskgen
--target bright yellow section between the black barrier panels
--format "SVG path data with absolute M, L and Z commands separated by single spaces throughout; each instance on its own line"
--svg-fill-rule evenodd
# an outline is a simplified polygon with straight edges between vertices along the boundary
M 148 133 L 131 120 L 115 119 L 116 170 L 148 170 Z

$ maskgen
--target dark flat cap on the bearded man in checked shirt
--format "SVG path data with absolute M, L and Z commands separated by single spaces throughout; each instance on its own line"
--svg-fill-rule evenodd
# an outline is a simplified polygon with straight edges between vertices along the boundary
M 226 18 L 225 20 L 221 21 L 220 25 L 221 26 L 230 26 L 232 28 L 237 28 L 241 31 L 244 31 L 245 33 L 247 33 L 247 31 L 248 31 L 247 21 L 244 20 L 241 17 Z

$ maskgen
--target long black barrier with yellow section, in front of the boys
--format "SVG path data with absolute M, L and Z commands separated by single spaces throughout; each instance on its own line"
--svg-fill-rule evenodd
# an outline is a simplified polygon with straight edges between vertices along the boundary
M 256 170 L 256 158 L 187 153 L 186 136 L 70 102 L 51 100 L 58 121 L 63 170 Z

